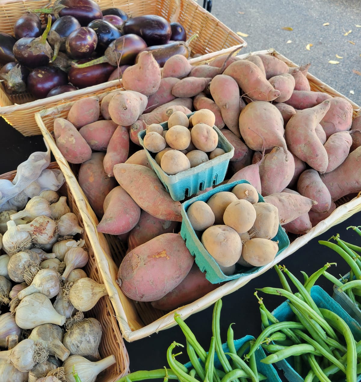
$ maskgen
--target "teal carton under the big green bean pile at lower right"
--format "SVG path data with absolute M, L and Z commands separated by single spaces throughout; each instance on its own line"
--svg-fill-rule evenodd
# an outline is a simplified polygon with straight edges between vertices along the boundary
M 316 303 L 318 308 L 329 309 L 330 311 L 336 313 L 347 326 L 350 328 L 353 337 L 356 340 L 356 343 L 361 340 L 361 327 L 350 315 L 342 308 L 342 306 L 337 303 L 328 293 L 326 293 L 321 286 L 314 285 L 311 288 L 311 297 Z M 292 312 L 288 301 L 283 302 L 278 306 L 272 314 L 279 321 L 293 321 L 295 319 L 295 314 Z M 339 336 L 342 334 L 338 333 Z M 285 378 L 290 382 L 303 382 L 304 378 L 301 377 L 298 372 L 293 368 L 291 358 L 285 358 L 281 361 L 275 363 L 275 365 L 281 369 L 285 375 Z M 341 378 L 337 379 L 335 376 L 330 375 L 330 380 L 332 382 L 344 382 L 346 379 Z M 357 376 L 357 381 L 361 381 L 361 374 Z

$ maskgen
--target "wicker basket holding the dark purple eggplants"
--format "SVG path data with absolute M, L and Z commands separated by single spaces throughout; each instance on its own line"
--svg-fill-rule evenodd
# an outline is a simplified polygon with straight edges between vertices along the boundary
M 230 53 L 237 47 L 245 47 L 246 42 L 232 32 L 217 18 L 204 10 L 193 0 L 154 0 L 151 2 L 143 0 L 95 0 L 101 9 L 118 7 L 130 16 L 158 15 L 168 21 L 181 23 L 187 33 L 191 36 L 195 33 L 198 37 L 191 42 L 191 55 L 206 55 L 204 58 L 197 57 L 191 60 L 192 64 L 204 63 L 207 55 L 217 52 Z M 53 3 L 52 1 L 51 3 Z M 49 3 L 47 0 L 37 1 L 15 1 L 0 0 L 0 32 L 13 34 L 15 21 L 28 9 L 44 8 Z M 45 23 L 44 23 L 45 24 Z M 0 116 L 12 125 L 24 136 L 41 134 L 32 115 L 44 108 L 50 108 L 65 102 L 71 102 L 78 98 L 96 95 L 106 89 L 119 87 L 119 81 L 109 81 L 100 85 L 89 86 L 84 89 L 71 91 L 65 94 L 54 95 L 49 98 L 34 100 L 27 92 L 9 95 L 0 86 Z M 24 123 L 26 121 L 26 124 Z

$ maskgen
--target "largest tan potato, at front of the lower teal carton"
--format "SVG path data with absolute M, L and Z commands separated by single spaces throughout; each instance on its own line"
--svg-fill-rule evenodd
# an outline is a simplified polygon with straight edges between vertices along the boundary
M 202 234 L 201 242 L 222 267 L 236 264 L 242 253 L 241 238 L 228 225 L 212 225 L 207 228 Z

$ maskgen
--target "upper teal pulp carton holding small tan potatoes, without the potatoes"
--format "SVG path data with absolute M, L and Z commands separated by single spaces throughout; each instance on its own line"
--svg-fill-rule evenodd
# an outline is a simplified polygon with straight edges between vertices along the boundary
M 190 113 L 187 116 L 190 117 L 191 115 L 193 115 L 193 113 Z M 168 122 L 163 122 L 160 125 L 163 126 L 163 130 L 168 130 Z M 175 175 L 166 174 L 162 168 L 160 168 L 158 163 L 155 162 L 155 154 L 152 154 L 144 147 L 143 139 L 146 135 L 146 131 L 143 130 L 138 133 L 139 143 L 146 151 L 149 164 L 173 200 L 184 200 L 186 197 L 196 194 L 199 191 L 203 191 L 210 186 L 219 185 L 224 180 L 229 160 L 233 157 L 235 149 L 221 133 L 220 129 L 216 126 L 213 126 L 213 129 L 218 135 L 217 147 L 223 149 L 225 154 L 219 155 L 218 157 L 201 163 L 196 167 L 181 171 Z

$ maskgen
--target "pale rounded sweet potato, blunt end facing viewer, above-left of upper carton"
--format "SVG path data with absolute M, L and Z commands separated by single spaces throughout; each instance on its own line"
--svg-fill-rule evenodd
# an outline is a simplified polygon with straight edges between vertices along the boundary
M 125 90 L 112 97 L 109 102 L 109 114 L 112 120 L 121 126 L 130 126 L 147 107 L 146 95 L 139 92 Z

